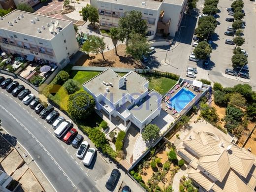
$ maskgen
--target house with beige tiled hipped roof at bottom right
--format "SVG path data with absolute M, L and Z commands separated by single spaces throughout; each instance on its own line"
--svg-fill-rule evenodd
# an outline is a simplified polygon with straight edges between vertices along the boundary
M 219 137 L 214 129 L 192 129 L 177 151 L 189 163 L 188 176 L 201 191 L 255 192 L 256 156 Z

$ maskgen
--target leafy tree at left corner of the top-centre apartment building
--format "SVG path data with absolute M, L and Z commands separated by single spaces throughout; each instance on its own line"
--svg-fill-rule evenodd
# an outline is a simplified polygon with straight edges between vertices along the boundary
M 86 7 L 82 8 L 82 16 L 84 21 L 89 20 L 94 27 L 95 23 L 98 22 L 98 11 L 91 4 L 87 4 Z

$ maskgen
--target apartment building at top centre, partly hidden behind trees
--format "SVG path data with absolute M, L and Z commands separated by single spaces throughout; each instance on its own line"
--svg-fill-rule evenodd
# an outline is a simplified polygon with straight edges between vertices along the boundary
M 126 11 L 137 10 L 148 22 L 148 39 L 156 34 L 174 36 L 178 31 L 187 0 L 90 0 L 98 9 L 101 29 L 118 27 Z

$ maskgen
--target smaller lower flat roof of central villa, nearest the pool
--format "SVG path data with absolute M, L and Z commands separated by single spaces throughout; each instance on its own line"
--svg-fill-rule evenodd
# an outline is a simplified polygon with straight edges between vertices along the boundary
M 130 112 L 140 122 L 143 122 L 152 113 L 154 113 L 154 111 L 161 107 L 161 98 L 162 95 L 155 90 L 151 90 L 148 95 L 143 98 L 142 102 L 138 102 L 133 108 L 130 109 Z

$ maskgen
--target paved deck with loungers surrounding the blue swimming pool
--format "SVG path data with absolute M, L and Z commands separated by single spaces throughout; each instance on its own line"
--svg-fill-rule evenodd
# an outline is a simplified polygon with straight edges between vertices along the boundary
M 174 96 L 175 94 L 177 94 L 182 88 L 184 88 L 184 83 L 182 83 L 182 85 L 179 85 L 178 89 L 175 89 L 176 86 L 170 90 L 170 92 L 162 99 L 161 101 L 161 108 L 166 111 L 167 113 L 169 113 L 172 117 L 174 117 L 175 119 L 177 119 L 178 117 L 180 117 L 181 115 L 183 115 L 184 113 L 186 113 L 186 108 L 188 108 L 189 106 L 192 106 L 195 102 L 195 100 L 200 97 L 202 95 L 202 91 L 196 92 L 194 91 L 192 85 L 190 85 L 189 87 L 185 87 L 186 89 L 188 89 L 189 91 L 191 91 L 193 94 L 195 94 L 195 97 L 186 105 L 186 107 L 183 108 L 183 110 L 179 113 L 177 112 L 176 114 L 173 115 L 173 112 L 175 111 L 174 109 L 169 109 L 168 107 L 166 107 L 166 102 L 168 101 L 168 97 L 171 98 L 172 96 Z M 173 92 L 173 93 L 172 93 Z M 170 94 L 172 93 L 172 94 Z

